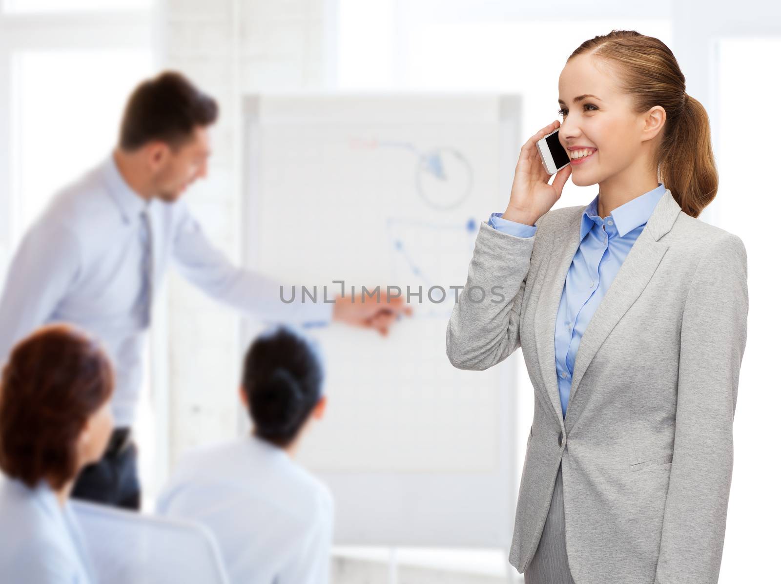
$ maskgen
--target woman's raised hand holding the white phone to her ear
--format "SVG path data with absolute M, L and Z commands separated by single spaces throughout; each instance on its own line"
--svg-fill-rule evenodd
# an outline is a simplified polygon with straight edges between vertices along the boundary
M 551 175 L 545 170 L 540 152 L 537 151 L 537 141 L 560 125 L 558 119 L 555 120 L 523 144 L 518 164 L 515 166 L 510 202 L 502 215 L 504 219 L 534 225 L 537 219 L 550 211 L 555 202 L 561 198 L 564 183 L 572 174 L 572 166 L 567 165 L 559 170 L 553 183 L 548 184 Z

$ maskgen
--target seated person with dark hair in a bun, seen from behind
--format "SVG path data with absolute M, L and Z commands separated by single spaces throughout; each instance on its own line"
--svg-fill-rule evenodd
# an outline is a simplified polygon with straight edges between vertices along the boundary
M 241 401 L 252 435 L 187 454 L 158 510 L 206 525 L 234 584 L 328 581 L 333 499 L 293 460 L 312 418 L 322 418 L 323 369 L 287 329 L 258 337 L 244 359 Z

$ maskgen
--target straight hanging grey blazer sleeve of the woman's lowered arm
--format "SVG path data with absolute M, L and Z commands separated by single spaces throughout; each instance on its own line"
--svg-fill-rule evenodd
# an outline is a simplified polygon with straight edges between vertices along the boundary
M 701 258 L 683 309 L 676 430 L 655 584 L 716 584 L 746 347 L 746 248 L 728 233 Z

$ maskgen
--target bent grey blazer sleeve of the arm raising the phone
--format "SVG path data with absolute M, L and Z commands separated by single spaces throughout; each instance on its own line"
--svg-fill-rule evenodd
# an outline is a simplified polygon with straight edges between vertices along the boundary
M 520 347 L 521 303 L 535 240 L 537 233 L 518 237 L 480 223 L 466 283 L 448 321 L 445 351 L 456 368 L 482 371 Z

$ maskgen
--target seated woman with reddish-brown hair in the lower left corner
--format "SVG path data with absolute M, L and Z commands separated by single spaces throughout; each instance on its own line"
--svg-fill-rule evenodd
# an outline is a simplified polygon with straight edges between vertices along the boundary
M 76 329 L 46 326 L 13 348 L 0 386 L 0 582 L 95 582 L 68 496 L 109 441 L 113 384 Z

